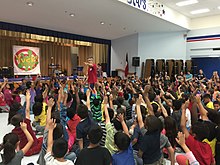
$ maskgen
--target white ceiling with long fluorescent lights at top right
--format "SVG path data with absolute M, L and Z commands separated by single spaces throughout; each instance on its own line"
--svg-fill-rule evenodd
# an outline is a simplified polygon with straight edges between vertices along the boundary
M 189 18 L 200 18 L 200 17 L 220 14 L 220 10 L 218 9 L 218 6 L 220 6 L 220 0 L 198 0 L 199 3 L 188 6 L 182 6 L 182 7 L 177 6 L 176 3 L 184 0 L 158 0 L 158 1 Z M 190 12 L 193 10 L 204 9 L 204 8 L 209 8 L 210 12 L 203 14 L 196 14 L 196 15 L 190 14 Z

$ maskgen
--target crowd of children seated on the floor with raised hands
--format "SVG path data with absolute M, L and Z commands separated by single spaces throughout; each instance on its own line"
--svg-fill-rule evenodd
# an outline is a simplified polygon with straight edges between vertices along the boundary
M 202 70 L 174 78 L 104 77 L 92 87 L 81 79 L 21 85 L 4 79 L 0 109 L 14 126 L 3 138 L 0 164 L 35 154 L 32 163 L 40 165 L 220 164 L 217 72 L 211 79 Z

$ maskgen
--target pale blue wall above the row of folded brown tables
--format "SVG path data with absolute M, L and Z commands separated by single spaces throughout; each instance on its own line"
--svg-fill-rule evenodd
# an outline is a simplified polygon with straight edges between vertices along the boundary
M 138 55 L 146 59 L 186 59 L 186 32 L 139 33 Z M 140 70 L 139 70 L 140 73 Z

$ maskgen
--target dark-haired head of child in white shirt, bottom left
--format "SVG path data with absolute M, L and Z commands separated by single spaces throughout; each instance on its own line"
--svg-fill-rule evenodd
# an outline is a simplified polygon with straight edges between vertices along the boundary
M 59 138 L 53 142 L 52 153 L 54 158 L 63 158 L 68 150 L 68 143 L 64 138 Z

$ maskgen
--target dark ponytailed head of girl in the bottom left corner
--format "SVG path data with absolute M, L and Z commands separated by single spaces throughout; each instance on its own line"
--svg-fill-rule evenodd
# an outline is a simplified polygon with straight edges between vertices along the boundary
M 15 157 L 15 150 L 19 145 L 18 135 L 8 133 L 3 138 L 3 163 L 8 164 Z

